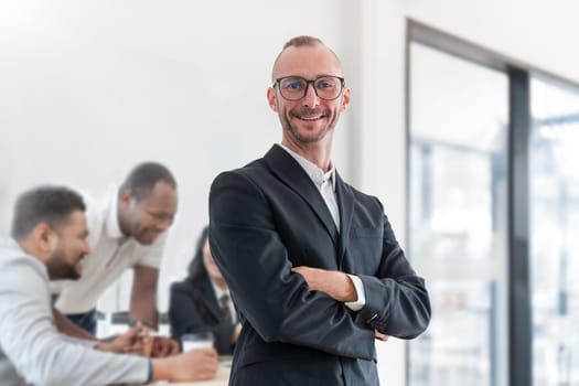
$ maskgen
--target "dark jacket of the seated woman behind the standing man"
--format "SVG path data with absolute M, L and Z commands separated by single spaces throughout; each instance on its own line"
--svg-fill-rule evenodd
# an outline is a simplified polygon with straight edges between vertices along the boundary
M 235 324 L 224 322 L 223 311 L 215 291 L 203 267 L 202 258 L 197 258 L 196 274 L 183 281 L 171 285 L 169 299 L 169 322 L 171 336 L 178 341 L 186 333 L 211 331 L 215 336 L 215 349 L 222 355 L 232 354 L 232 335 Z

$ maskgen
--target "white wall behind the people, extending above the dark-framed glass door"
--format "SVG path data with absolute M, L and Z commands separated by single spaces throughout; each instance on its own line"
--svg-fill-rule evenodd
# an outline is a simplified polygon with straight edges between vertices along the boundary
M 289 37 L 313 34 L 342 56 L 353 87 L 334 161 L 383 200 L 404 242 L 406 18 L 579 82 L 577 14 L 573 0 L 3 0 L 0 235 L 25 187 L 99 193 L 159 160 L 181 196 L 165 288 L 206 222 L 213 176 L 279 140 L 270 67 Z M 401 386 L 404 344 L 378 349 L 384 383 Z

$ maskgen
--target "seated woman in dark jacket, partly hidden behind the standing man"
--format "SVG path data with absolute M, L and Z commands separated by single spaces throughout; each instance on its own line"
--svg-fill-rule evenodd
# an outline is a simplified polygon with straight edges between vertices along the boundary
M 233 353 L 242 330 L 235 308 L 229 300 L 229 289 L 213 260 L 205 227 L 197 240 L 189 275 L 171 286 L 169 322 L 171 336 L 181 341 L 187 333 L 212 332 L 219 355 Z

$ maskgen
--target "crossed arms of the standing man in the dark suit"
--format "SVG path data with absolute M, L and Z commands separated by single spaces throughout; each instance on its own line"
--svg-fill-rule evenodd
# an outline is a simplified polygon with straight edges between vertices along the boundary
M 376 336 L 412 337 L 426 329 L 430 309 L 423 281 L 414 275 L 386 219 L 380 267 L 375 276 L 356 274 L 366 304 L 353 313 L 343 304 L 356 300 L 345 274 L 292 266 L 270 204 L 249 178 L 219 175 L 212 186 L 210 217 L 215 260 L 237 305 L 266 342 L 369 360 Z

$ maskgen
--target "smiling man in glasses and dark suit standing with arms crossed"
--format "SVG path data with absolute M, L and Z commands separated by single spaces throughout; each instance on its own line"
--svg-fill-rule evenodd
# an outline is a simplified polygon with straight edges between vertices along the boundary
M 211 250 L 244 317 L 230 385 L 378 385 L 374 340 L 419 335 L 430 303 L 382 204 L 332 164 L 340 60 L 294 37 L 267 96 L 281 143 L 210 194 Z

